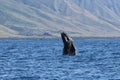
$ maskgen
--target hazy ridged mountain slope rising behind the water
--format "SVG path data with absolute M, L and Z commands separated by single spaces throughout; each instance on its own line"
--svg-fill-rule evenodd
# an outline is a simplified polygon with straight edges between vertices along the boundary
M 0 38 L 120 37 L 119 0 L 0 0 Z

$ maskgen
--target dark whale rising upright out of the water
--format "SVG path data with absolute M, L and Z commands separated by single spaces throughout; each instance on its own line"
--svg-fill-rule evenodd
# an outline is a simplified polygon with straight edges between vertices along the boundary
M 63 55 L 76 55 L 76 48 L 73 44 L 72 38 L 70 38 L 65 32 L 61 33 L 61 38 L 64 44 Z

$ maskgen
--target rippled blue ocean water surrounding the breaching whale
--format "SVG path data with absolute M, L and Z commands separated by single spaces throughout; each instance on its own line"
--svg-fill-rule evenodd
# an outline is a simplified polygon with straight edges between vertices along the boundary
M 76 56 L 63 43 L 0 40 L 0 80 L 120 80 L 120 39 L 75 39 Z

